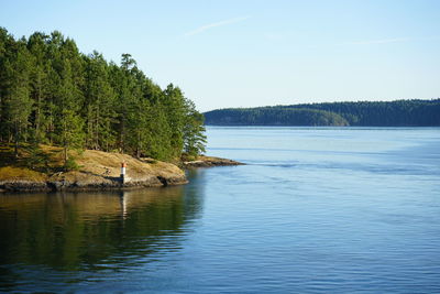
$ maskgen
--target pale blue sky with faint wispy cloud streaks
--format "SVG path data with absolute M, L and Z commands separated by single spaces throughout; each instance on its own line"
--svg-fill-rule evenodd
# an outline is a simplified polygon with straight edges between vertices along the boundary
M 0 0 L 15 37 L 61 31 L 200 111 L 440 97 L 438 0 Z

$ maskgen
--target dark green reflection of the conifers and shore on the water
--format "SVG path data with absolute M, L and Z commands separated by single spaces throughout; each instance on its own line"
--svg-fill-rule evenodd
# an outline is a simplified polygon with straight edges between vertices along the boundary
M 200 190 L 2 195 L 0 290 L 37 279 L 36 269 L 114 271 L 179 250 L 186 224 L 200 217 Z

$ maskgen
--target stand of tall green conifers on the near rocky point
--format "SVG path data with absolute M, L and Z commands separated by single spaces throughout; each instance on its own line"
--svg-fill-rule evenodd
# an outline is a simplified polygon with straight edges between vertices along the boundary
M 15 40 L 0 28 L 0 143 L 118 151 L 158 160 L 204 152 L 204 117 L 178 87 L 85 55 L 55 31 Z

